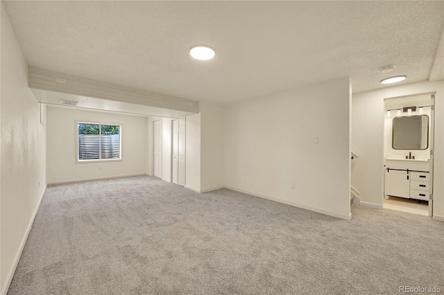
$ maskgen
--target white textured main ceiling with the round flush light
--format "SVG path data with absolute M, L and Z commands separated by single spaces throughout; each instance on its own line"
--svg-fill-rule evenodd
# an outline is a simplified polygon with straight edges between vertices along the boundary
M 444 1 L 2 1 L 29 66 L 228 104 L 352 78 L 427 80 Z M 210 61 L 189 48 L 207 44 Z M 395 71 L 378 69 L 395 64 Z

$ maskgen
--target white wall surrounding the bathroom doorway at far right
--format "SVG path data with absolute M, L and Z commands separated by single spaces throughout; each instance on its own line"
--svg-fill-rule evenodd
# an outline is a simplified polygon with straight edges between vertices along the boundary
M 352 185 L 361 200 L 382 207 L 384 180 L 384 98 L 409 96 L 436 91 L 434 218 L 444 220 L 444 82 L 416 82 L 353 94 L 352 150 L 359 154 L 353 160 Z

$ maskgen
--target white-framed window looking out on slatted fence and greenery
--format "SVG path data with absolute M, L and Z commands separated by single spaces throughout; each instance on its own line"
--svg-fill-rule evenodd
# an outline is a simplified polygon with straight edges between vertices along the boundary
M 77 123 L 78 161 L 120 160 L 121 125 Z

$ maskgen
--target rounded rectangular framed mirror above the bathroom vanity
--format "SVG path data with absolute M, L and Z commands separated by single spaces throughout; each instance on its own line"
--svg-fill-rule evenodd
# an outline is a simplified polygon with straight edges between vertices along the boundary
M 429 147 L 429 116 L 393 118 L 394 150 L 427 150 Z

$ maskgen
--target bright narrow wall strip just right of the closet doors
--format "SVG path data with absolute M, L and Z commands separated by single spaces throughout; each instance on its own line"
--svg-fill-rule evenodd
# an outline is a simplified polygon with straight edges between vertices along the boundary
M 200 113 L 185 117 L 185 187 L 200 192 Z

